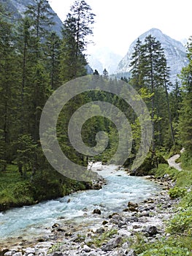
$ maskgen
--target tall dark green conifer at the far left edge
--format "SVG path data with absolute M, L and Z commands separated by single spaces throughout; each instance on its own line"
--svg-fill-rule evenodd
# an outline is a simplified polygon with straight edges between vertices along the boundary
M 0 8 L 1 5 L 0 5 Z M 12 25 L 7 22 L 3 8 L 0 16 L 0 148 L 3 162 L 11 162 L 12 143 L 17 134 L 17 100 L 18 100 L 18 59 L 13 43 Z M 5 168 L 5 165 L 4 165 Z

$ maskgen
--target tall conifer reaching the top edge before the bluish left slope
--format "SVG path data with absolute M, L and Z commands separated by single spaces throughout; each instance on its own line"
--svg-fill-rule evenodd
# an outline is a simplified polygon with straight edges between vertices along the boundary
M 33 41 L 30 52 L 33 53 L 30 69 L 30 81 L 26 88 L 30 116 L 30 132 L 32 138 L 39 140 L 39 120 L 42 108 L 50 94 L 49 78 L 45 67 L 45 34 L 49 34 L 49 27 L 53 25 L 53 12 L 45 0 L 35 0 L 34 5 L 28 5 L 25 15 L 30 20 L 30 35 Z

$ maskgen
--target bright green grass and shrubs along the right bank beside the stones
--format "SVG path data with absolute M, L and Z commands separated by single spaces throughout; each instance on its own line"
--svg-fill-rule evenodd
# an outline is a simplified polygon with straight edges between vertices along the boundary
M 190 157 L 180 157 L 185 170 L 179 171 L 167 165 L 151 170 L 155 178 L 172 178 L 174 187 L 169 189 L 170 200 L 180 198 L 174 208 L 174 215 L 166 222 L 166 233 L 155 242 L 138 236 L 133 248 L 139 256 L 187 256 L 192 255 L 192 165 Z M 168 176 L 167 176 L 168 174 Z

